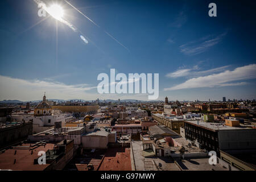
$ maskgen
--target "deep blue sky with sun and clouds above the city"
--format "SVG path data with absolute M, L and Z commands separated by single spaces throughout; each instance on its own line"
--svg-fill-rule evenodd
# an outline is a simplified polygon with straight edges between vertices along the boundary
M 44 2 L 59 3 L 79 31 L 57 23 L 56 44 L 56 20 L 39 17 L 34 1 L 1 1 L 0 100 L 147 100 L 98 94 L 97 76 L 110 68 L 159 73 L 159 100 L 255 98 L 255 2 L 69 1 L 98 26 L 65 1 Z

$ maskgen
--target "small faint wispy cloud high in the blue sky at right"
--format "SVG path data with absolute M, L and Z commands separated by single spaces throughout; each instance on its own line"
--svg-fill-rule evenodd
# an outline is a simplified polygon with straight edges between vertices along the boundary
M 222 38 L 226 35 L 224 34 L 215 36 L 213 38 L 209 38 L 210 36 L 201 38 L 199 41 L 189 42 L 187 44 L 181 45 L 180 52 L 184 53 L 185 55 L 193 56 L 199 53 L 207 51 L 210 47 L 218 44 L 221 42 Z M 206 40 L 205 40 L 206 39 Z

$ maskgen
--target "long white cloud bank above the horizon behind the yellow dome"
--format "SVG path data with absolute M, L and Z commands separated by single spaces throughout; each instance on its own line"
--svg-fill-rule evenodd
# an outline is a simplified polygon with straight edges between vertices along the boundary
M 23 80 L 0 75 L 1 99 L 38 100 L 43 92 L 51 98 L 88 98 L 86 91 L 97 87 L 88 84 L 66 85 L 56 81 Z

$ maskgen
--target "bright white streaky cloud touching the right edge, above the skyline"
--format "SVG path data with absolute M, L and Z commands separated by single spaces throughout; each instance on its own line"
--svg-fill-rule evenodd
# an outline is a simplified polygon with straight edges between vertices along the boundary
M 245 82 L 234 82 L 240 80 L 249 80 L 256 78 L 256 64 L 250 64 L 243 67 L 238 67 L 233 71 L 224 71 L 222 73 L 212 74 L 191 78 L 182 84 L 165 88 L 164 90 L 179 90 L 189 88 L 203 88 L 214 86 L 237 86 L 245 85 Z

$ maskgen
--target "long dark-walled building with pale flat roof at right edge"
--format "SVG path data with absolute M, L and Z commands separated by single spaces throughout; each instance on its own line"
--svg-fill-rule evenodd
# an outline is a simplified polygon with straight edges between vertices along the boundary
M 256 130 L 231 127 L 224 123 L 184 121 L 185 138 L 207 151 L 240 150 L 256 148 Z

